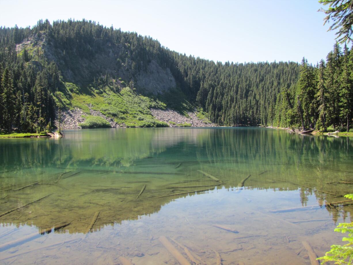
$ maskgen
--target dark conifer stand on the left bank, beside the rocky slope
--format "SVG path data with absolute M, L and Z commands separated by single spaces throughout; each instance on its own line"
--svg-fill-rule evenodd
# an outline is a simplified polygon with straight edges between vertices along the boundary
M 39 133 L 53 126 L 59 69 L 40 60 L 38 48 L 36 57 L 27 49 L 16 50 L 32 34 L 30 28 L 0 27 L 0 130 Z

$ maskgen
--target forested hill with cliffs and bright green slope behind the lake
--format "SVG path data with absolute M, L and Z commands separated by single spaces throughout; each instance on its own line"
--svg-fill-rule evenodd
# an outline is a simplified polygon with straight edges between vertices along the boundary
M 283 120 L 281 95 L 293 97 L 299 69 L 215 63 L 87 20 L 1 27 L 0 129 L 42 131 L 58 108 L 89 113 L 87 105 L 128 126 L 165 125 L 153 121 L 150 107 L 197 106 L 220 125 L 289 125 L 298 119 Z

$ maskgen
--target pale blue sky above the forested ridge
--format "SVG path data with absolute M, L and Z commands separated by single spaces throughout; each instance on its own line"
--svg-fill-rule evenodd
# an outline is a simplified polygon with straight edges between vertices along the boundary
M 323 26 L 324 13 L 317 12 L 322 7 L 317 0 L 0 0 L 0 6 L 2 26 L 85 18 L 222 62 L 300 62 L 305 56 L 315 64 L 335 43 L 334 33 Z

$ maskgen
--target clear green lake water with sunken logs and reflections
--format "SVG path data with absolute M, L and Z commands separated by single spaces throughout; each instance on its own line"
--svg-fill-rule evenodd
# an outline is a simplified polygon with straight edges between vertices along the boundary
M 1 264 L 179 264 L 164 237 L 190 264 L 310 264 L 302 242 L 324 255 L 353 211 L 332 204 L 353 193 L 349 138 L 72 130 L 0 139 L 0 159 Z

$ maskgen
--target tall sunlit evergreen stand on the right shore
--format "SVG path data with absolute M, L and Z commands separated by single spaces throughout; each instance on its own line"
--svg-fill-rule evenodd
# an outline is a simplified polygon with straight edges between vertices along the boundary
M 352 49 L 351 49 L 352 51 Z M 345 46 L 343 54 L 336 43 L 316 67 L 308 65 L 303 58 L 300 77 L 296 87 L 283 90 L 277 101 L 276 125 L 301 126 L 300 109 L 304 127 L 327 131 L 339 128 L 349 131 L 353 114 L 353 56 Z M 297 104 L 291 106 L 290 101 Z M 297 113 L 295 113 L 297 112 Z M 283 118 L 283 116 L 285 118 Z

